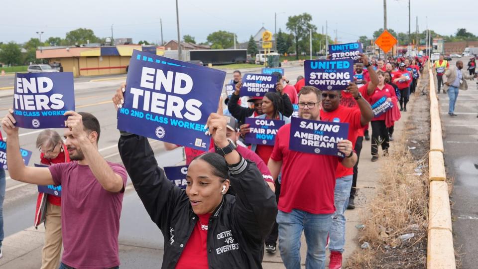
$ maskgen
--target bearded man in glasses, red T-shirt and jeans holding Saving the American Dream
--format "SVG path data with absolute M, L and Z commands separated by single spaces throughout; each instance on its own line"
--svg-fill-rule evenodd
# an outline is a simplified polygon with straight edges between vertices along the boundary
M 299 92 L 299 118 L 320 120 L 321 95 L 317 88 L 305 86 Z M 325 246 L 332 223 L 335 173 L 341 162 L 353 167 L 357 154 L 350 140 L 338 148 L 347 157 L 319 155 L 289 149 L 290 124 L 276 135 L 267 166 L 274 178 L 282 170 L 277 223 L 279 250 L 286 268 L 300 268 L 300 237 L 307 241 L 306 268 L 325 268 Z

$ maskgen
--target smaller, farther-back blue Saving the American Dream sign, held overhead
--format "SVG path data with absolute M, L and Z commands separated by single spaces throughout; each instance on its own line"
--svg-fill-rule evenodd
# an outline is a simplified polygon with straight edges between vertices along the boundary
M 267 92 L 275 92 L 277 76 L 264 74 L 244 74 L 240 96 L 264 96 Z

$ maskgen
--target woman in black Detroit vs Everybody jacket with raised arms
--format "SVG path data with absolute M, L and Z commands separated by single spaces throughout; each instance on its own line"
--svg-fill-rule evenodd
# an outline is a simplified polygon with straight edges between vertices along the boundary
M 162 268 L 262 268 L 264 239 L 277 215 L 275 195 L 254 163 L 235 149 L 229 152 L 226 124 L 222 115 L 209 117 L 216 152 L 226 154 L 196 157 L 189 165 L 186 191 L 166 178 L 147 138 L 121 133 L 123 164 L 164 236 Z M 226 194 L 230 184 L 236 196 Z

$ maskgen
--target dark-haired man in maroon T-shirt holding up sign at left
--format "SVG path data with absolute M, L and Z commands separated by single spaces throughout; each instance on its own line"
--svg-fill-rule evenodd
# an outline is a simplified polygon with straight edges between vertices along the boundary
M 118 268 L 119 216 L 126 169 L 98 151 L 100 123 L 89 113 L 65 113 L 65 145 L 72 162 L 29 167 L 20 155 L 13 110 L 2 120 L 8 137 L 6 160 L 12 179 L 36 185 L 61 185 L 63 257 L 60 268 Z

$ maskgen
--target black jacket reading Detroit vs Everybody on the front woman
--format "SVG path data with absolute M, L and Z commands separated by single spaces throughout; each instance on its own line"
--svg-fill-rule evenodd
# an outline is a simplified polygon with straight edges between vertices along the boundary
M 121 135 L 118 147 L 134 189 L 164 236 L 162 268 L 175 268 L 198 217 L 186 192 L 158 167 L 145 137 Z M 236 196 L 224 195 L 209 219 L 209 268 L 262 268 L 264 240 L 277 215 L 275 195 L 255 163 L 244 160 L 230 168 L 229 177 Z

